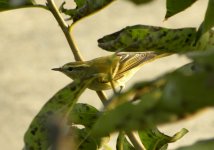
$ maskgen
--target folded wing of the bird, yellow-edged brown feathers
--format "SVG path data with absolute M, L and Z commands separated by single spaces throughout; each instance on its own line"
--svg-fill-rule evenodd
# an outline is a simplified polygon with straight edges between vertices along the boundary
M 120 57 L 120 62 L 117 73 L 113 77 L 114 80 L 122 78 L 132 69 L 140 68 L 142 64 L 157 56 L 155 52 L 117 53 L 116 55 Z

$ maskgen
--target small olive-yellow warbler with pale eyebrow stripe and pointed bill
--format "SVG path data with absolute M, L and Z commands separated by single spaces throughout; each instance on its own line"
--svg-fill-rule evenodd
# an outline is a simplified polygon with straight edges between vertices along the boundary
M 73 80 L 96 76 L 88 88 L 101 91 L 124 87 L 143 64 L 163 56 L 165 54 L 159 55 L 155 52 L 118 52 L 89 61 L 69 62 L 52 70 L 60 71 Z

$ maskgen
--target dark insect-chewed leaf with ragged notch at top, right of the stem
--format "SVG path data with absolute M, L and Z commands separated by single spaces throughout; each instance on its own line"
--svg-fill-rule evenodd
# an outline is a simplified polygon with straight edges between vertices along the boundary
M 106 7 L 114 0 L 75 0 L 75 9 L 65 9 L 63 3 L 60 7 L 60 11 L 73 19 L 73 22 L 80 20 L 96 11 Z

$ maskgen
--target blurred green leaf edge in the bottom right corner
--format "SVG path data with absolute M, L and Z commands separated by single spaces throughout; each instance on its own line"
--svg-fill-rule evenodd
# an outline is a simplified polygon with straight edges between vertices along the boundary
M 201 140 L 191 146 L 177 148 L 176 150 L 211 150 L 214 147 L 214 139 Z

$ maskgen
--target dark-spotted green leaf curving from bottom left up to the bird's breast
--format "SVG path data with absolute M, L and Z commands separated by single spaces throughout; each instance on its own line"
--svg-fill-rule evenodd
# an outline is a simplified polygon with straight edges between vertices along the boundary
M 43 106 L 25 133 L 26 149 L 46 150 L 54 143 L 60 130 L 66 128 L 67 116 L 91 80 L 75 81 L 67 85 Z

